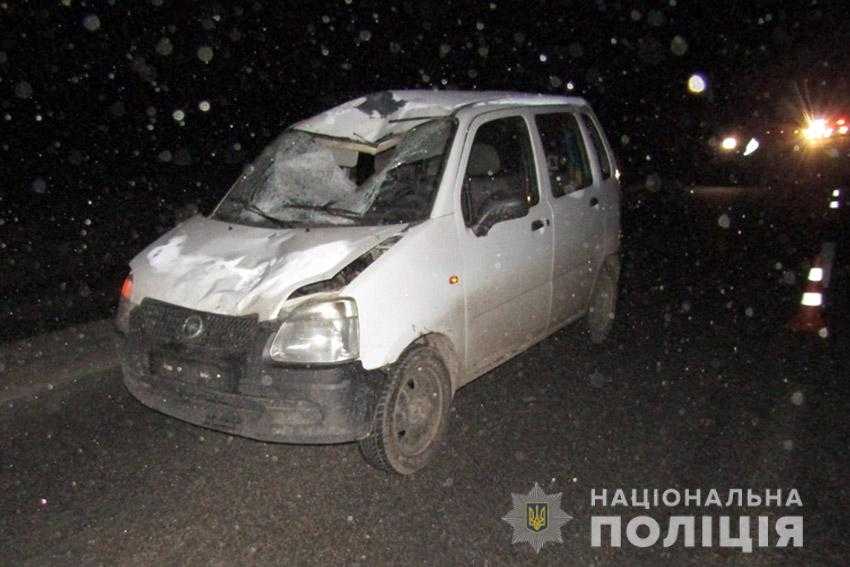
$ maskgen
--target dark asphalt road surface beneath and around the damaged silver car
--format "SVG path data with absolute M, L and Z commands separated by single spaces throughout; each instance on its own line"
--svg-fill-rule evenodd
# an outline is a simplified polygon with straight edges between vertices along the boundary
M 612 340 L 591 347 L 574 326 L 462 389 L 446 450 L 412 477 L 368 468 L 354 445 L 179 422 L 130 398 L 117 371 L 0 417 L 0 563 L 840 564 L 847 342 L 837 316 L 826 339 L 784 328 L 824 224 L 783 203 L 632 197 Z M 539 554 L 501 519 L 535 482 L 573 517 Z M 600 512 L 592 488 L 796 488 L 804 547 L 591 547 L 594 513 L 662 527 L 777 514 Z

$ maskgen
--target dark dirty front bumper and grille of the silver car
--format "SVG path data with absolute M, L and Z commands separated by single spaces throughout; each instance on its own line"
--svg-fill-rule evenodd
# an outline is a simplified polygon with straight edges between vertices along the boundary
M 204 333 L 181 338 L 188 317 Z M 124 384 L 148 407 L 263 441 L 341 443 L 366 436 L 380 371 L 359 362 L 285 367 L 263 360 L 270 330 L 256 319 L 146 299 L 119 335 Z

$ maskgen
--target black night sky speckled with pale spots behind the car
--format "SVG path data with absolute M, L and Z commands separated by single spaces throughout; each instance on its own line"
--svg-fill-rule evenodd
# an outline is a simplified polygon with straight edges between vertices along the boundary
M 0 309 L 43 318 L 62 311 L 45 297 L 65 297 L 65 313 L 102 310 L 175 210 L 207 209 L 287 124 L 369 91 L 578 94 L 627 179 L 676 175 L 722 128 L 793 124 L 801 97 L 841 109 L 846 12 L 810 1 L 7 0 Z M 700 96 L 685 88 L 693 72 L 708 80 Z

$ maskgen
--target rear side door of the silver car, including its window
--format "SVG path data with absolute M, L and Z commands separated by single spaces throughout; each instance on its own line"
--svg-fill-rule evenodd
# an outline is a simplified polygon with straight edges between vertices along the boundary
M 590 146 L 576 114 L 535 114 L 536 142 L 545 156 L 543 184 L 552 206 L 554 237 L 550 324 L 559 326 L 585 312 L 604 249 L 604 217 Z

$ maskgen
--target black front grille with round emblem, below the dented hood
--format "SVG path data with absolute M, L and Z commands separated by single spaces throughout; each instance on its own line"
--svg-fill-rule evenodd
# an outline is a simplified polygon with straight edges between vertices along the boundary
M 144 343 L 245 355 L 256 344 L 256 315 L 234 317 L 144 299 L 130 314 L 130 332 Z

